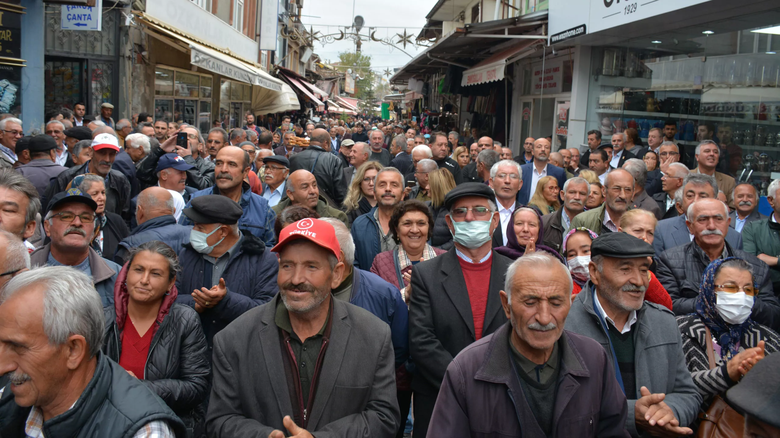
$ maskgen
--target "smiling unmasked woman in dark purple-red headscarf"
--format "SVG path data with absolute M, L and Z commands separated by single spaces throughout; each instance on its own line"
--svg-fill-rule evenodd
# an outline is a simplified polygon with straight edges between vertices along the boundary
M 512 213 L 512 221 L 506 226 L 506 246 L 499 246 L 496 253 L 517 260 L 524 253 L 533 253 L 537 249 L 551 253 L 563 263 L 563 258 L 558 251 L 545 245 L 537 245 L 543 242 L 544 229 L 541 224 L 541 214 L 531 207 L 521 205 Z

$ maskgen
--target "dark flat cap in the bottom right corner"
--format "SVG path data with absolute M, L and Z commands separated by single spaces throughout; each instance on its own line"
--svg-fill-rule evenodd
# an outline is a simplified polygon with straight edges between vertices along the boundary
M 780 355 L 761 359 L 726 397 L 740 412 L 780 428 Z

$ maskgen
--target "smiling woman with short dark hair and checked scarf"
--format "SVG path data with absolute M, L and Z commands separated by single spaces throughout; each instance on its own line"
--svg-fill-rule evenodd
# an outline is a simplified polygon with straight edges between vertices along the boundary
M 431 210 L 418 200 L 406 200 L 395 206 L 388 226 L 399 246 L 374 257 L 371 272 L 382 277 L 401 290 L 401 296 L 409 303 L 412 267 L 424 260 L 431 260 L 444 249 L 428 244 L 433 235 Z

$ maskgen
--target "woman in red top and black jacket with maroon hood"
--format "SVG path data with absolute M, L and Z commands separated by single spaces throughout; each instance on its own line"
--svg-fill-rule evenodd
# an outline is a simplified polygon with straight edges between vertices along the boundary
M 179 257 L 153 240 L 130 251 L 105 306 L 108 358 L 168 404 L 188 429 L 204 419 L 209 356 L 200 316 L 176 304 Z

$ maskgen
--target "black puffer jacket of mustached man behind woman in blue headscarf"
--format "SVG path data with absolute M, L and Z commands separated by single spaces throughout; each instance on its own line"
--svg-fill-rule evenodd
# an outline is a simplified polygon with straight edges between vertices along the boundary
M 733 249 L 725 242 L 729 257 L 739 257 L 753 267 L 753 277 L 758 284 L 758 296 L 753 304 L 753 321 L 764 324 L 773 330 L 780 325 L 780 303 L 772 292 L 769 281 L 769 267 L 753 254 L 741 249 Z M 658 267 L 655 276 L 672 297 L 672 310 L 675 315 L 687 315 L 696 311 L 696 297 L 699 295 L 701 276 L 709 258 L 696 241 L 667 249 L 656 258 Z

